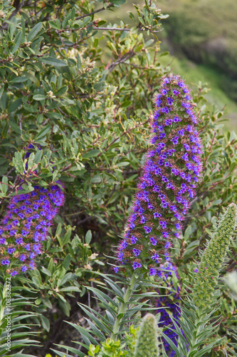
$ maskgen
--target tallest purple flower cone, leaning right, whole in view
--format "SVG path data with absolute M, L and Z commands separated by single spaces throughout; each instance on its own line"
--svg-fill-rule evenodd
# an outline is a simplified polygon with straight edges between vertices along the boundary
M 201 173 L 197 119 L 184 81 L 174 75 L 163 78 L 155 103 L 152 149 L 117 251 L 122 264 L 149 269 L 151 276 L 159 274 L 172 238 L 179 237 Z M 118 270 L 115 267 L 115 272 Z

